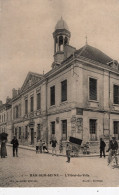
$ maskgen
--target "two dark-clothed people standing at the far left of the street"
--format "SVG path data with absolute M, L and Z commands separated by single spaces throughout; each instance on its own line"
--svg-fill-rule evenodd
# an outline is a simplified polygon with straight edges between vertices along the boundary
M 6 143 L 7 143 L 7 140 L 1 140 L 1 158 L 7 157 Z M 14 138 L 12 139 L 11 144 L 13 145 L 13 157 L 15 156 L 18 157 L 19 142 L 16 136 L 14 136 Z

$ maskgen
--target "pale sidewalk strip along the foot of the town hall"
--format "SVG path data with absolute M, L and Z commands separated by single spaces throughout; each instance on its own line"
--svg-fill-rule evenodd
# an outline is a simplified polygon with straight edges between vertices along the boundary
M 7 146 L 10 146 L 12 147 L 12 144 L 9 144 L 7 143 Z M 24 146 L 24 145 L 19 145 L 19 148 L 21 149 L 25 149 L 25 150 L 31 150 L 31 151 L 36 151 L 35 147 L 34 146 Z M 49 153 L 46 153 L 46 154 L 52 154 L 52 150 L 49 149 Z M 65 156 L 66 157 L 66 152 L 63 151 L 63 153 L 59 153 L 59 151 L 57 151 L 57 156 Z M 78 156 L 72 156 L 72 157 L 99 157 L 100 154 L 98 153 L 90 153 L 90 154 L 80 154 Z M 107 155 L 106 155 L 107 156 Z

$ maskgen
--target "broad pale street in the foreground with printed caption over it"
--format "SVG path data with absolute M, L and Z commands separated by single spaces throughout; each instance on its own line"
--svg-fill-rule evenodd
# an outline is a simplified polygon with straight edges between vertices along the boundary
M 71 158 L 36 154 L 19 149 L 19 157 L 0 159 L 0 187 L 103 187 L 119 186 L 119 166 L 107 166 L 107 158 Z

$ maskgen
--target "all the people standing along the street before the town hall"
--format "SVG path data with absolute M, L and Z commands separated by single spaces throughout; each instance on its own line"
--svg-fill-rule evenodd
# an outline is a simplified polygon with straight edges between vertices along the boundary
M 6 142 L 7 140 L 2 140 L 1 141 L 1 158 L 5 158 L 7 156 L 7 149 L 6 149 Z M 11 141 L 11 144 L 13 145 L 13 157 L 18 157 L 18 146 L 19 146 L 19 142 L 16 138 L 16 136 L 14 136 L 14 138 Z M 52 155 L 56 155 L 56 146 L 57 146 L 57 140 L 56 138 L 52 138 L 52 140 L 50 141 L 50 144 L 52 146 Z M 102 138 L 100 138 L 100 158 L 102 158 L 102 156 L 104 156 L 105 158 L 105 147 L 106 147 L 106 143 L 104 142 L 104 140 Z M 48 151 L 48 147 L 45 141 L 42 140 L 38 140 L 38 142 L 36 143 L 36 153 L 42 153 L 43 152 L 49 152 Z M 60 153 L 62 153 L 63 151 L 63 143 L 62 140 L 60 140 L 59 142 L 59 151 Z M 71 151 L 72 151 L 72 147 L 70 142 L 68 141 L 66 143 L 66 156 L 67 156 L 67 161 L 68 163 L 70 163 L 70 157 L 71 157 Z M 112 162 L 112 159 L 115 159 L 116 165 L 118 165 L 118 158 L 117 158 L 117 151 L 118 151 L 118 143 L 116 141 L 115 137 L 112 137 L 112 139 L 109 141 L 109 147 L 108 150 L 106 152 L 109 152 L 108 155 L 108 165 Z

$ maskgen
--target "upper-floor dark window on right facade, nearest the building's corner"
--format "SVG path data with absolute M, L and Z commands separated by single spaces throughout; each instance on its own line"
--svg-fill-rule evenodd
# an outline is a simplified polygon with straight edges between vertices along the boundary
M 97 100 L 97 80 L 94 78 L 89 78 L 89 98 Z

